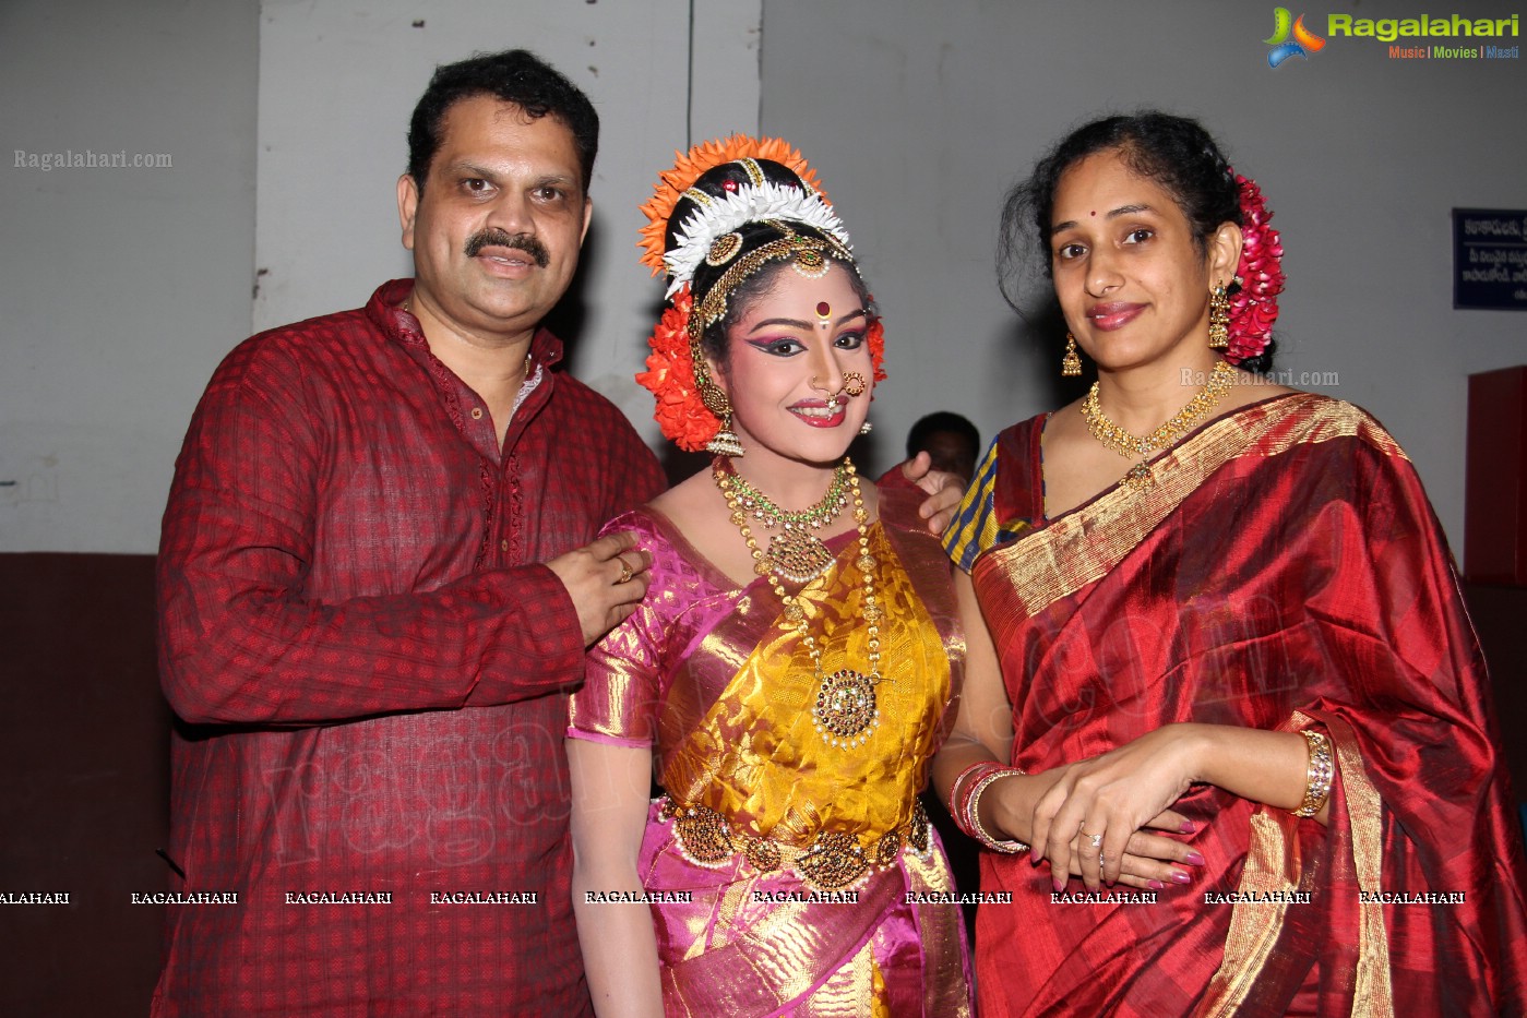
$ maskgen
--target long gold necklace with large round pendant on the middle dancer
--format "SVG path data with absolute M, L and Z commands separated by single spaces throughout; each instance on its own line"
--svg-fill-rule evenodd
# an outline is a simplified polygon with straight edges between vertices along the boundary
M 712 467 L 712 476 L 716 481 L 716 487 L 721 490 L 721 496 L 727 499 L 727 508 L 731 510 L 731 525 L 738 528 L 742 534 L 742 543 L 748 546 L 748 554 L 753 556 L 753 572 L 764 577 L 773 588 L 774 595 L 779 597 L 780 603 L 785 606 L 785 621 L 796 626 L 796 632 L 800 635 L 800 643 L 806 647 L 806 653 L 811 655 L 812 675 L 817 679 L 817 699 L 811 708 L 812 723 L 817 733 L 834 746 L 861 746 L 880 725 L 880 708 L 875 702 L 875 687 L 883 681 L 880 675 L 880 620 L 883 618 L 883 610 L 880 601 L 875 597 L 875 556 L 869 549 L 869 513 L 864 511 L 864 495 L 860 491 L 858 473 L 854 470 L 854 464 L 847 458 L 838 467 L 838 473 L 846 476 L 847 490 L 854 499 L 854 522 L 858 527 L 858 543 L 860 554 L 854 565 L 863 575 L 864 585 L 864 606 L 861 614 L 864 621 L 869 624 L 869 675 L 855 672 L 854 668 L 840 668 L 832 675 L 822 675 L 822 649 L 817 646 L 817 638 L 811 635 L 811 624 L 806 620 L 806 610 L 802 607 L 800 600 L 785 589 L 785 580 L 789 577 L 779 568 L 779 563 L 771 554 L 765 554 L 759 548 L 759 542 L 753 537 L 753 531 L 748 530 L 748 513 L 744 508 L 744 502 L 739 496 L 739 488 L 747 482 L 730 469 L 730 461 L 725 456 L 716 456 Z M 837 487 L 837 476 L 834 475 L 834 487 L 828 488 L 831 496 Z M 783 513 L 773 502 L 765 499 L 751 485 L 747 487 L 751 493 L 754 502 L 765 502 L 776 513 Z M 808 511 L 825 511 L 820 510 L 828 499 L 818 502 L 812 510 Z M 757 508 L 753 510 L 757 516 Z M 837 516 L 837 510 L 832 510 L 832 519 Z M 817 540 L 809 537 L 809 540 Z M 820 542 L 817 542 L 820 543 Z M 770 545 L 773 551 L 773 543 Z M 826 546 L 823 545 L 823 551 Z M 831 563 L 832 559 L 829 557 Z M 820 569 L 818 569 L 820 572 Z

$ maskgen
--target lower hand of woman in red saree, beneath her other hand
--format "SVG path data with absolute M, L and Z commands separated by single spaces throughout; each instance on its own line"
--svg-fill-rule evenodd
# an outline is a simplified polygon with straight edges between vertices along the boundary
M 1054 768 L 1043 774 L 1025 774 L 993 781 L 982 792 L 982 809 L 985 810 L 989 801 L 993 823 L 1022 841 L 1023 832 L 1032 829 L 1037 804 L 1046 801 L 1069 771 L 1070 768 Z M 1203 856 L 1174 838 L 1150 833 L 1147 829 L 1193 833 L 1194 827 L 1180 813 L 1170 809 L 1161 810 L 1125 838 L 1113 879 L 1142 890 L 1161 890 L 1167 884 L 1190 882 L 1191 876 L 1186 867 L 1203 865 Z M 1064 873 L 1066 879 L 1081 876 L 1086 881 L 1087 875 L 1081 870 L 1081 861 L 1090 850 L 1090 839 L 1083 839 L 1078 832 L 1072 838 L 1070 849 L 1070 858 L 1063 864 L 1067 868 L 1055 867 L 1052 859 L 1052 871 Z M 1093 868 L 1096 868 L 1096 853 L 1092 856 Z M 1034 841 L 1029 861 L 1038 865 L 1043 858 L 1046 858 L 1046 846 L 1041 841 Z M 1057 891 L 1066 887 L 1066 879 L 1055 878 Z M 1089 887 L 1096 890 L 1096 879 Z

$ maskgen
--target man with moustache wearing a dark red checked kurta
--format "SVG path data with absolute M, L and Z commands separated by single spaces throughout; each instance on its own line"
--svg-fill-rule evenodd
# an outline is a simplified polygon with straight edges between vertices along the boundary
M 399 182 L 415 279 L 209 383 L 159 556 L 188 904 L 154 1013 L 589 1010 L 565 694 L 646 589 L 644 556 L 588 542 L 663 487 L 539 328 L 597 130 L 528 53 L 441 67 Z

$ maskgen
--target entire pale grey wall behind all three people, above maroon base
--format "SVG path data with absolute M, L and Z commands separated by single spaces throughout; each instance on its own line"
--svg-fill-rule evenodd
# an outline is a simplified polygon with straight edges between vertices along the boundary
M 0 551 L 153 551 L 215 363 L 257 325 L 353 307 L 406 272 L 408 110 L 434 63 L 512 44 L 605 116 L 596 246 L 563 322 L 574 368 L 649 437 L 629 375 L 658 285 L 635 261 L 635 208 L 689 137 L 762 127 L 818 168 L 889 319 L 884 464 L 930 409 L 991 433 L 1063 397 L 1055 337 L 997 295 L 996 212 L 1067 125 L 1159 104 L 1202 116 L 1269 195 L 1289 250 L 1283 366 L 1335 372 L 1313 388 L 1376 412 L 1461 540 L 1464 377 L 1527 360 L 1527 316 L 1451 308 L 1448 212 L 1527 206 L 1519 60 L 1390 61 L 1332 38 L 1272 70 L 1261 3 L 702 0 L 693 21 L 690 6 L 0 5 Z M 171 165 L 44 172 L 14 150 Z

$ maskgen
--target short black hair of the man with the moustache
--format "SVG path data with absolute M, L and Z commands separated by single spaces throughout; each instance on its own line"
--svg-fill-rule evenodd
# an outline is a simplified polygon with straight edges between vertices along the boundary
M 435 67 L 429 87 L 414 107 L 408 125 L 408 176 L 423 191 L 429 163 L 440 151 L 440 125 L 450 107 L 473 96 L 513 102 L 533 121 L 553 116 L 573 134 L 583 191 L 594 177 L 599 154 L 599 113 L 577 85 L 556 67 L 524 49 L 478 53 L 455 64 Z

